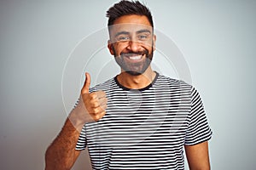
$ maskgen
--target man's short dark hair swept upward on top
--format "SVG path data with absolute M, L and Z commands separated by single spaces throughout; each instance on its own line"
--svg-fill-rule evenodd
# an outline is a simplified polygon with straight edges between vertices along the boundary
M 124 15 L 138 14 L 144 15 L 148 18 L 149 23 L 154 27 L 152 14 L 148 7 L 139 1 L 127 1 L 122 0 L 119 3 L 115 3 L 113 7 L 107 11 L 108 26 L 112 26 L 114 20 Z

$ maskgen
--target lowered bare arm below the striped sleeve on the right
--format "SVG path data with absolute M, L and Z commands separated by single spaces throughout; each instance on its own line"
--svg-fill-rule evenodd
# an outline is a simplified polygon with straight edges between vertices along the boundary
M 210 170 L 208 142 L 195 145 L 185 145 L 190 170 Z

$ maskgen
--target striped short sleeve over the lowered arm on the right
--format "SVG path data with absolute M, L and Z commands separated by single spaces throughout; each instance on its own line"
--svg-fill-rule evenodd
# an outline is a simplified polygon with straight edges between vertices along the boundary
M 199 144 L 212 138 L 212 130 L 207 122 L 201 96 L 195 88 L 191 88 L 191 111 L 189 127 L 186 132 L 186 145 Z

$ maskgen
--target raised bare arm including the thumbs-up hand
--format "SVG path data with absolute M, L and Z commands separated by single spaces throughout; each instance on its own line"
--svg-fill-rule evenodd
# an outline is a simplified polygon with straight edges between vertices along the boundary
M 105 93 L 102 91 L 89 93 L 90 75 L 86 74 L 85 76 L 79 104 L 71 111 L 61 133 L 46 150 L 46 170 L 62 170 L 73 167 L 80 153 L 75 148 L 84 123 L 97 122 L 106 113 L 107 98 Z

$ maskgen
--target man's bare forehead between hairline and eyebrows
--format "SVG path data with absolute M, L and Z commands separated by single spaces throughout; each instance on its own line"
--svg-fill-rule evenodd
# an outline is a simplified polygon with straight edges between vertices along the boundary
M 140 30 L 148 30 L 150 32 L 153 30 L 148 18 L 144 15 L 124 15 L 115 20 L 112 26 L 109 26 L 111 34 L 119 31 L 128 31 L 132 33 Z

